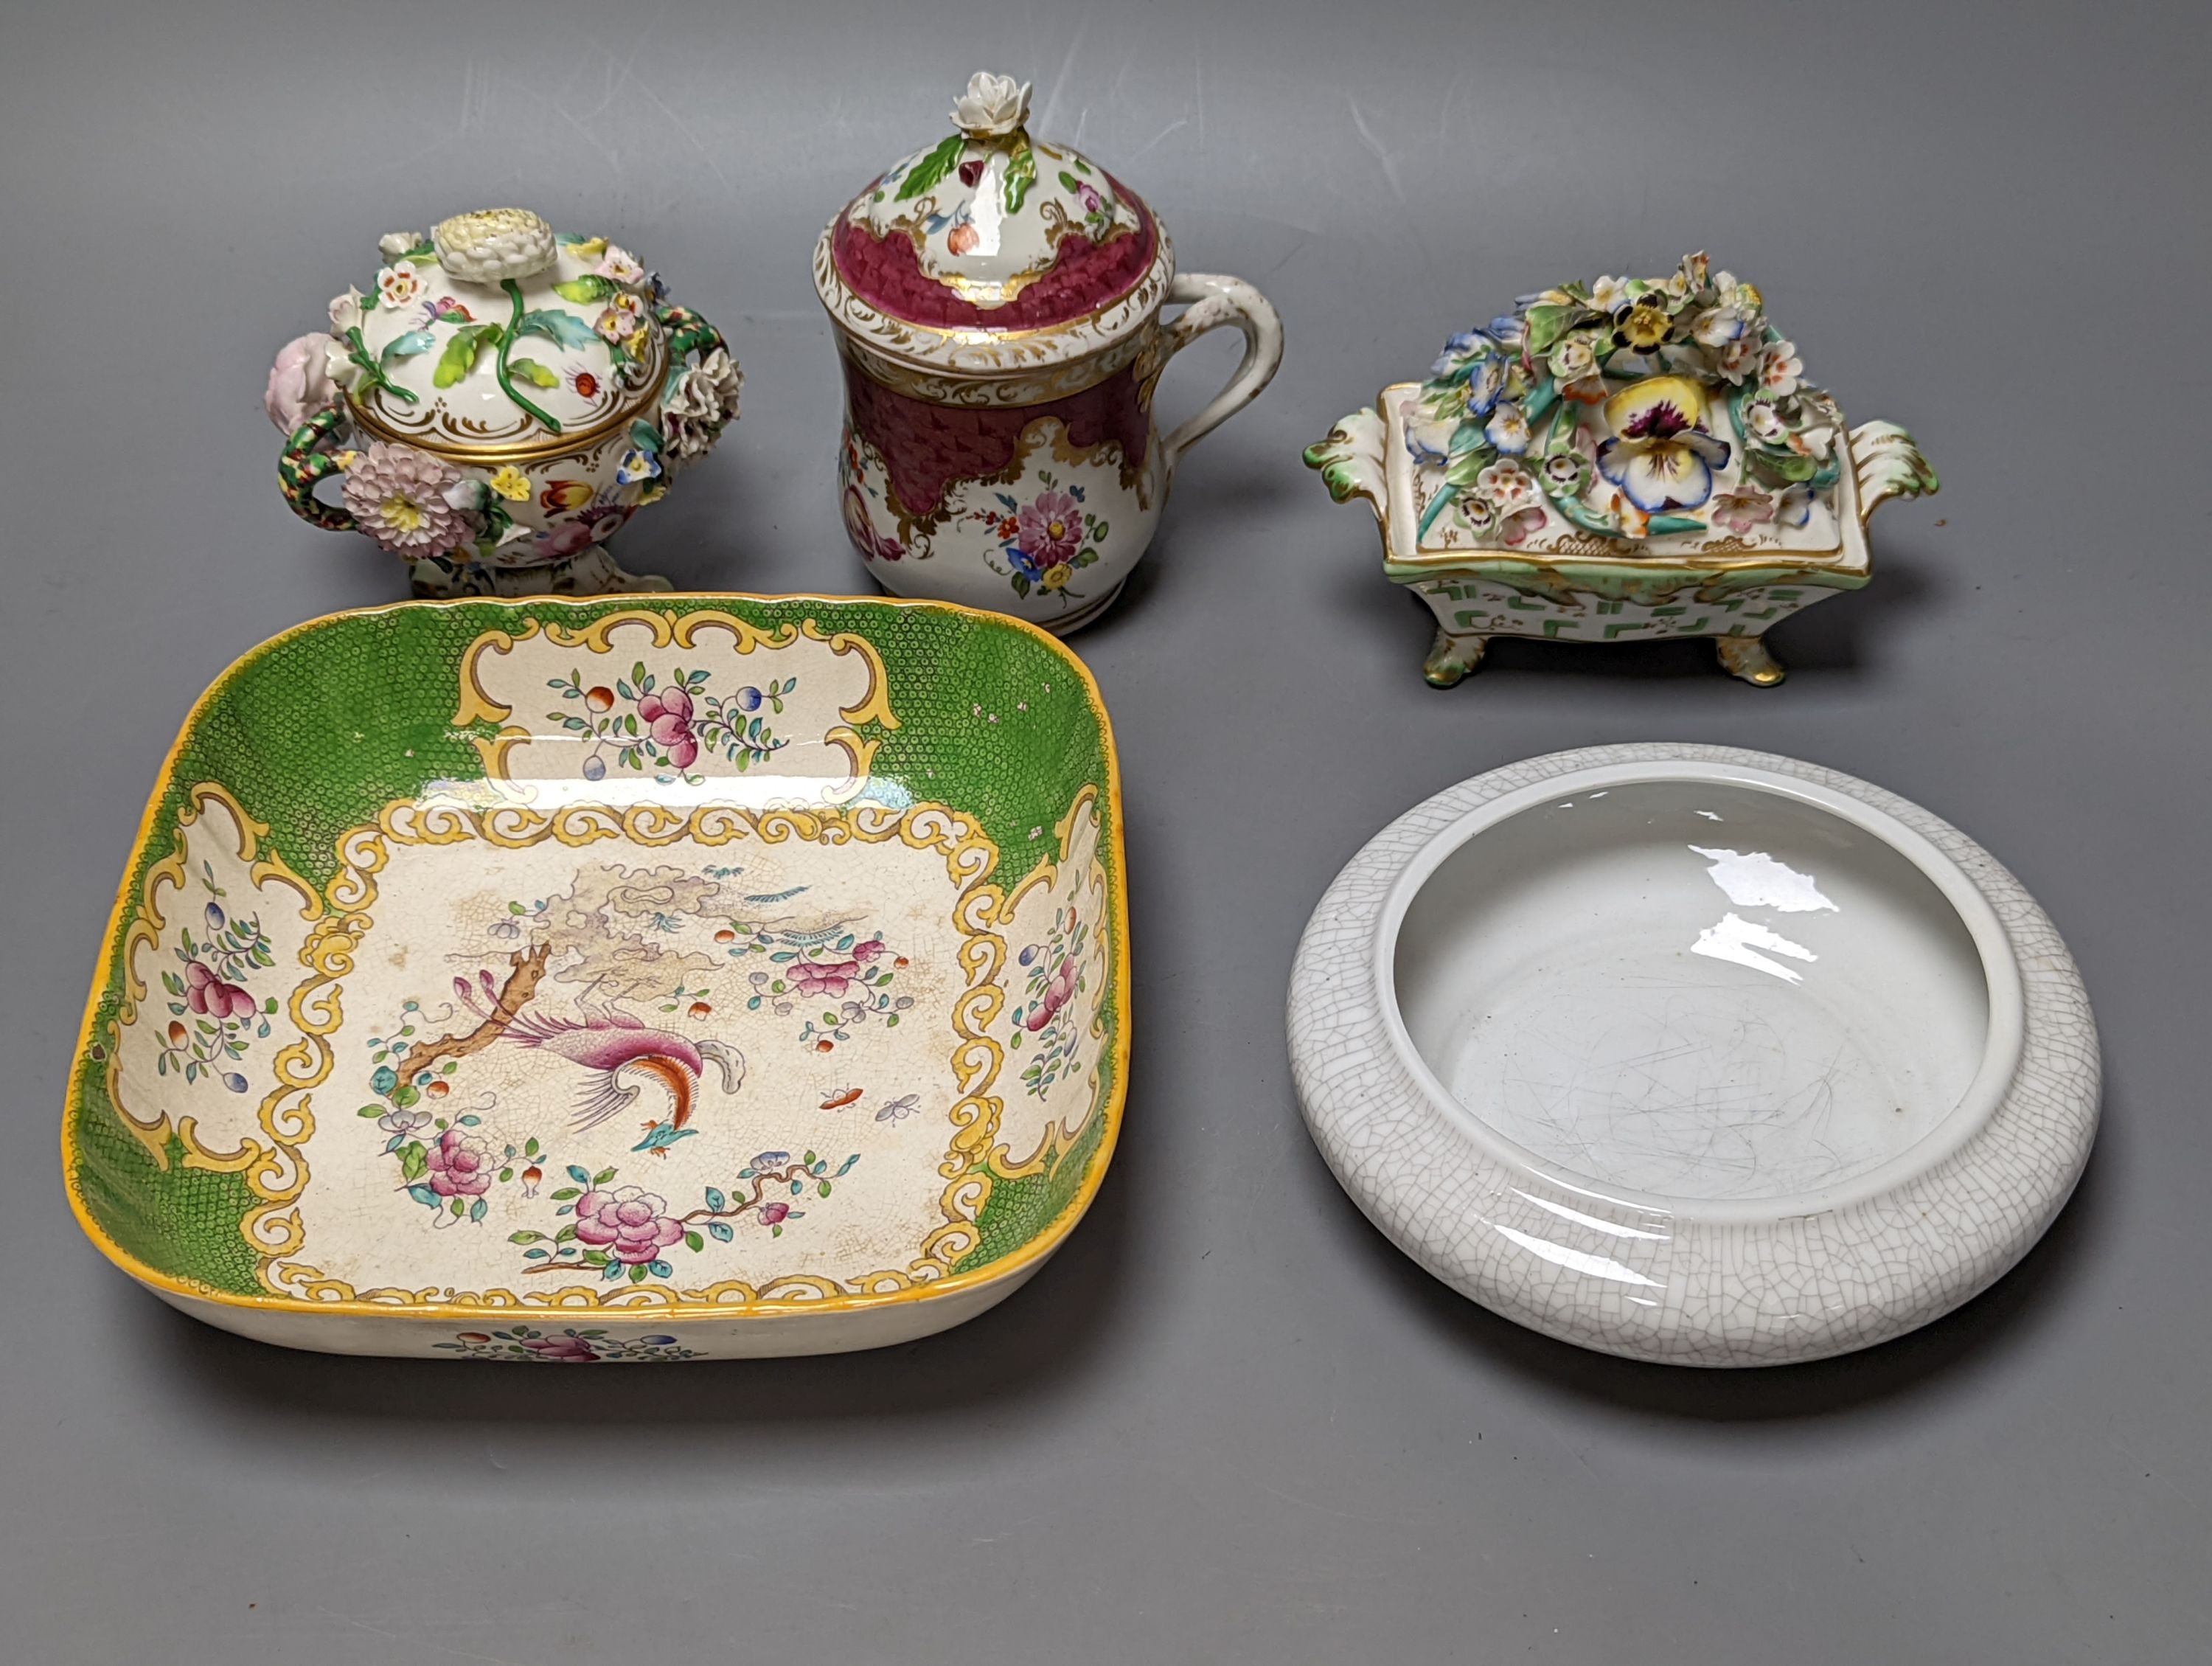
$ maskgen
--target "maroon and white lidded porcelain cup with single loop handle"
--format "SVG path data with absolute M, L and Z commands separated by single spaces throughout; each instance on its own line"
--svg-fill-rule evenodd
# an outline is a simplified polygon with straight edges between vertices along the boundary
M 1177 458 L 1274 376 L 1283 325 L 1250 283 L 1177 272 L 1128 186 L 1033 139 L 1026 84 L 975 75 L 951 119 L 814 248 L 845 529 L 887 591 L 1073 631 L 1144 555 Z M 1221 325 L 1243 363 L 1161 436 L 1161 367 Z

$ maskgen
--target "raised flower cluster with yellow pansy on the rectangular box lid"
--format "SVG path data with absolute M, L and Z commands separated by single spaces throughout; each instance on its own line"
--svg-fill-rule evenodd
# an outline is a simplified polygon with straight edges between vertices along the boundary
M 1422 385 L 1409 438 L 1442 480 L 1420 535 L 1447 511 L 1509 546 L 1553 513 L 1621 540 L 1803 527 L 1840 478 L 1840 418 L 1803 369 L 1759 290 L 1703 254 L 1524 296 Z

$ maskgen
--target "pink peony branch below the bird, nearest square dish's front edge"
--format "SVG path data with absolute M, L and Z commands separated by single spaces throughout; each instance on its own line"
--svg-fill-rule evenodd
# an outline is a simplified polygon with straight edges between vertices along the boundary
M 509 1232 L 507 1241 L 522 1246 L 524 1272 L 593 1272 L 606 1283 L 672 1279 L 668 1252 L 677 1246 L 699 1254 L 708 1239 L 730 1243 L 737 1239 L 737 1224 L 783 1237 L 787 1221 L 805 1217 L 790 1199 L 807 1193 L 830 1197 L 856 1162 L 860 1153 L 832 1170 L 830 1159 L 812 1150 L 799 1162 L 787 1150 L 763 1150 L 737 1170 L 739 1184 L 728 1193 L 719 1186 L 703 1188 L 701 1206 L 684 1215 L 672 1215 L 668 1199 L 644 1186 L 613 1186 L 613 1168 L 586 1175 L 571 1166 L 571 1184 L 553 1193 L 553 1199 L 560 1204 L 555 1215 L 573 1219 L 553 1235 L 524 1228 Z

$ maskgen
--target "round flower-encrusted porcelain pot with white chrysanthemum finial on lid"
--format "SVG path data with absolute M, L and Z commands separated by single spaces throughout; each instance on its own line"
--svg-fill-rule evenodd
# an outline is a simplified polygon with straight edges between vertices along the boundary
M 378 252 L 270 369 L 292 511 L 367 533 L 416 595 L 666 591 L 606 540 L 737 418 L 721 334 L 628 250 L 522 208 Z

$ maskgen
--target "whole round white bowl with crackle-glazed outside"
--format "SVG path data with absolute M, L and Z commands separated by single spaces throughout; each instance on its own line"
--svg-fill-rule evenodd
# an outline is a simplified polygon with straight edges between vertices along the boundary
M 1400 1250 L 1672 1365 L 1958 1308 L 2064 1206 L 2099 1104 L 2081 978 L 1989 852 L 1714 746 L 1526 759 L 1394 821 L 1314 909 L 1290 1051 Z

